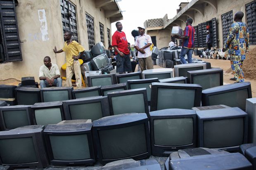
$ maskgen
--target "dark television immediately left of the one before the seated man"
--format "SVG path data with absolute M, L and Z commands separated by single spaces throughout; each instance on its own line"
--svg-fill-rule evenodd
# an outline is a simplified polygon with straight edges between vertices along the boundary
M 17 105 L 33 105 L 41 102 L 40 88 L 17 87 L 14 91 Z

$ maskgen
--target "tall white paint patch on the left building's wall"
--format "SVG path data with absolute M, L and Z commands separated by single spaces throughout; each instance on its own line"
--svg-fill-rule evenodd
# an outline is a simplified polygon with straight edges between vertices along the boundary
M 49 40 L 49 37 L 48 37 L 48 28 L 47 28 L 45 9 L 38 10 L 38 17 L 40 21 L 40 30 L 41 30 L 42 40 L 47 41 Z

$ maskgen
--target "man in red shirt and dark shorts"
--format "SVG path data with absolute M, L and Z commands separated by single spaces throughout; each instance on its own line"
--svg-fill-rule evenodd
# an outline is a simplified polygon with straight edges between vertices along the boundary
M 119 74 L 132 72 L 130 51 L 126 34 L 122 31 L 123 26 L 121 22 L 116 23 L 116 29 L 116 32 L 112 35 L 112 46 L 116 54 L 116 72 L 119 72 Z

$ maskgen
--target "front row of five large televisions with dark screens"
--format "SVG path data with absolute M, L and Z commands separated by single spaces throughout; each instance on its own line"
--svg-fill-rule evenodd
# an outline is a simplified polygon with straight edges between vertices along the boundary
M 84 120 L 24 126 L 0 132 L 0 163 L 11 167 L 102 164 L 169 156 L 172 151 L 208 147 L 237 151 L 247 143 L 248 114 L 238 107 L 163 109 Z M 46 148 L 46 149 L 45 149 Z

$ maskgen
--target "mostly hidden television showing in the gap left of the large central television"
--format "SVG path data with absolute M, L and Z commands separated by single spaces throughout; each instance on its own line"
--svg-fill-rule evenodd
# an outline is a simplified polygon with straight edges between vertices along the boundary
M 153 83 L 153 82 L 158 82 L 158 78 L 128 80 L 127 86 L 128 86 L 128 89 L 146 88 L 147 89 L 147 101 L 150 105 L 151 83 Z

